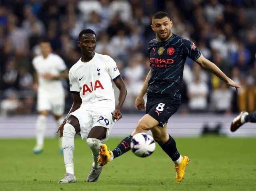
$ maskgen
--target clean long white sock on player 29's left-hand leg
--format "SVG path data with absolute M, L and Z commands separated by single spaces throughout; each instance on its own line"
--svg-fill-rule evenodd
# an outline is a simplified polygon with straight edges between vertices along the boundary
M 67 123 L 64 125 L 63 138 L 62 138 L 63 155 L 64 155 L 66 172 L 70 174 L 74 174 L 75 134 L 76 134 L 76 130 L 71 124 Z

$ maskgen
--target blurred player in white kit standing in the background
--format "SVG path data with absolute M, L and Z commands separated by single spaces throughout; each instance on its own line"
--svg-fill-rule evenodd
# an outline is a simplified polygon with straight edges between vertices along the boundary
M 43 151 L 48 112 L 52 111 L 58 126 L 63 122 L 65 93 L 60 79 L 68 79 L 67 67 L 60 56 L 51 53 L 52 48 L 48 39 L 42 39 L 40 49 L 41 55 L 34 57 L 32 61 L 39 112 L 36 122 L 36 146 L 33 149 L 35 154 Z M 63 152 L 61 138 L 59 147 L 60 152 Z

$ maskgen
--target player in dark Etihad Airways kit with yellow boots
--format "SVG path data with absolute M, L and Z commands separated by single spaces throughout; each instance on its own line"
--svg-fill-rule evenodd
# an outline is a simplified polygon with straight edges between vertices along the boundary
M 130 142 L 134 135 L 151 130 L 154 140 L 174 162 L 176 182 L 180 182 L 184 178 L 189 159 L 180 155 L 174 138 L 167 134 L 167 122 L 181 103 L 180 90 L 186 57 L 196 61 L 228 85 L 236 89 L 239 86 L 214 63 L 204 58 L 192 41 L 172 34 L 171 28 L 172 21 L 166 12 L 154 14 L 152 30 L 156 32 L 156 39 L 150 41 L 148 49 L 151 70 L 135 103 L 139 110 L 145 109 L 143 96 L 147 93 L 146 115 L 140 119 L 134 132 L 122 140 L 114 150 L 108 151 L 107 146 L 102 145 L 98 161 L 105 165 L 121 156 L 130 150 Z

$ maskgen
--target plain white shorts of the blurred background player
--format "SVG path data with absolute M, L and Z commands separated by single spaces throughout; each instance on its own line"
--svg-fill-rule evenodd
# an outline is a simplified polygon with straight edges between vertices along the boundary
M 38 94 L 37 110 L 38 112 L 43 110 L 52 111 L 54 115 L 62 116 L 65 110 L 65 95 L 49 96 L 46 94 Z

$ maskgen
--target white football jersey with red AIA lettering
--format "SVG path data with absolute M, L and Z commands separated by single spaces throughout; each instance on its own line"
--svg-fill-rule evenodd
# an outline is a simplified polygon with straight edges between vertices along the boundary
M 69 71 L 70 91 L 80 94 L 81 107 L 93 112 L 115 109 L 112 81 L 120 77 L 116 62 L 107 55 L 95 53 L 89 62 L 81 59 Z

